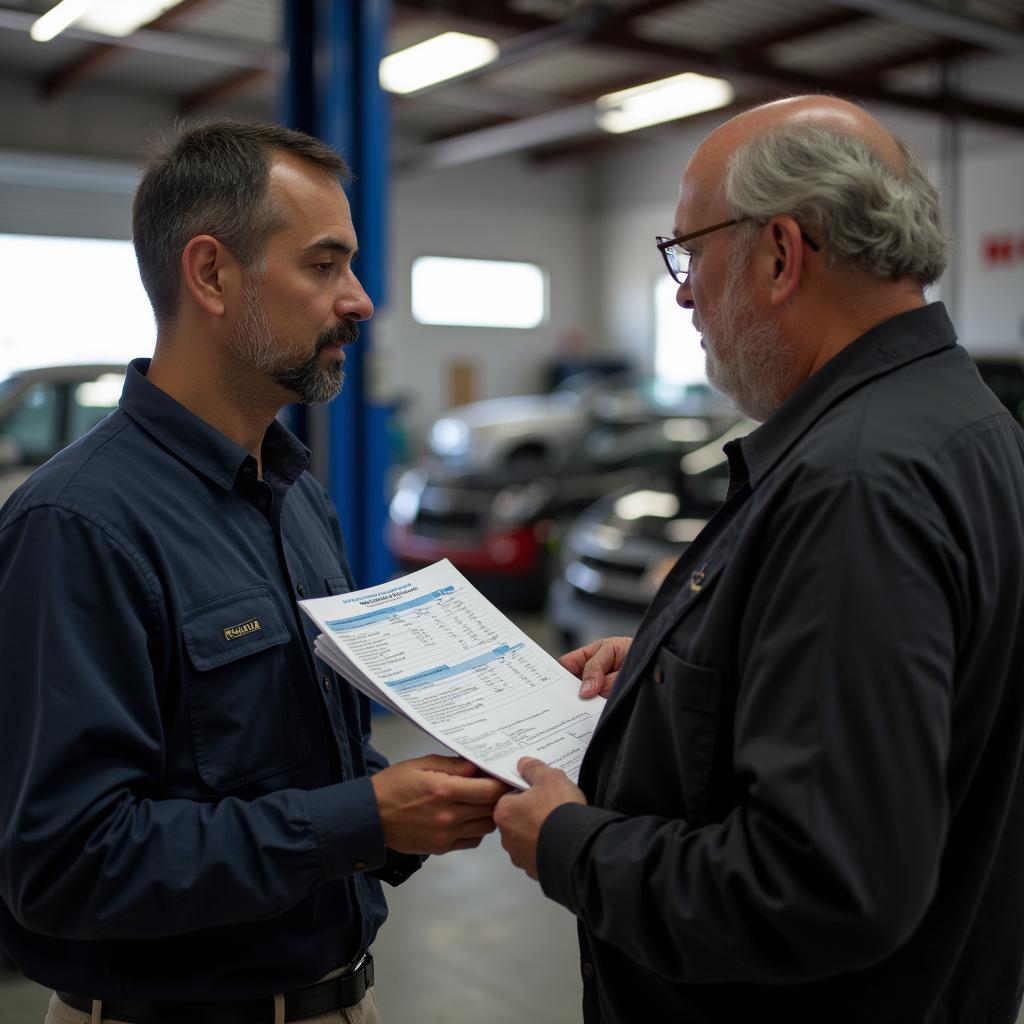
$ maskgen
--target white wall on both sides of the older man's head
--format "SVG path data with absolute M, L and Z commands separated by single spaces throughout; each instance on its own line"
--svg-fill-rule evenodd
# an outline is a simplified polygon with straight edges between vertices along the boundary
M 994 65 L 1005 82 L 1008 69 L 1002 61 Z M 935 297 L 949 302 L 962 340 L 977 349 L 1024 352 L 1024 133 L 964 127 L 953 170 L 945 163 L 947 129 L 940 119 L 890 108 L 870 110 L 921 153 L 943 190 L 947 221 L 955 214 L 956 224 L 949 225 L 953 254 Z M 670 231 L 682 168 L 719 123 L 706 117 L 650 132 L 632 147 L 605 157 L 597 171 L 598 248 L 604 258 L 601 344 L 630 353 L 641 366 L 652 364 L 651 292 L 665 273 L 654 236 Z M 956 204 L 949 195 L 954 182 Z M 1021 255 L 1010 264 L 991 266 L 982 257 L 983 241 L 998 233 L 1012 237 Z M 680 310 L 680 317 L 686 316 Z

